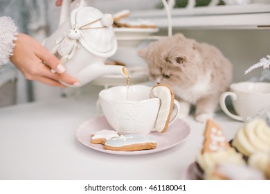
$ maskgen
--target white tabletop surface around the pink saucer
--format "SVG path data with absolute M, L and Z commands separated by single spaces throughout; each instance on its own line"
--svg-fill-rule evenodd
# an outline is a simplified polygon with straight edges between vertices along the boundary
M 111 155 L 80 143 L 75 132 L 99 115 L 96 94 L 0 108 L 0 179 L 181 179 L 203 142 L 204 124 L 190 116 L 185 142 L 149 155 Z M 228 139 L 242 123 L 215 116 Z

